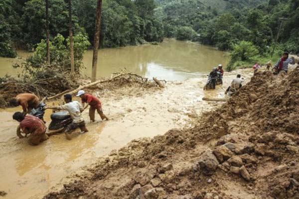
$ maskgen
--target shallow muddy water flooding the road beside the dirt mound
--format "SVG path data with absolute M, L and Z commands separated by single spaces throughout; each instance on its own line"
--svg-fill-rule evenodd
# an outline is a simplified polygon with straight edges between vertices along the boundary
M 241 74 L 248 74 L 243 70 Z M 71 141 L 64 135 L 51 136 L 38 146 L 29 146 L 26 138 L 15 134 L 17 122 L 12 114 L 20 108 L 0 112 L 0 191 L 5 199 L 40 198 L 59 182 L 67 182 L 67 176 L 80 167 L 94 163 L 97 158 L 119 149 L 133 139 L 164 134 L 171 128 L 189 127 L 203 111 L 212 109 L 219 102 L 202 101 L 203 97 L 223 98 L 224 91 L 237 73 L 226 73 L 224 85 L 215 91 L 203 91 L 206 75 L 183 82 L 168 82 L 166 89 L 145 92 L 140 96 L 123 95 L 115 91 L 99 91 L 104 113 L 110 121 L 90 123 L 88 133 L 73 133 Z M 248 74 L 245 78 L 249 78 Z M 126 89 L 126 88 L 125 88 Z M 131 90 L 130 90 L 131 91 Z M 129 92 L 129 91 L 128 91 Z M 45 120 L 50 122 L 51 110 Z

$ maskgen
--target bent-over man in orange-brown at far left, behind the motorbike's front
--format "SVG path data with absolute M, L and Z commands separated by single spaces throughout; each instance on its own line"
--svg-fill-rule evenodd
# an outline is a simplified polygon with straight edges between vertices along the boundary
M 23 108 L 23 114 L 27 114 L 33 108 L 37 108 L 39 105 L 39 99 L 34 94 L 19 94 L 14 99 L 9 101 L 11 106 L 21 105 Z

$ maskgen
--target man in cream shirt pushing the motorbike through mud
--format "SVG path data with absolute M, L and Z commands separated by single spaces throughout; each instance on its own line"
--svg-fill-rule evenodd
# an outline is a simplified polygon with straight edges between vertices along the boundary
M 81 115 L 81 112 L 84 110 L 83 106 L 78 101 L 72 101 L 72 96 L 69 94 L 64 95 L 64 105 L 60 106 L 47 106 L 47 108 L 50 109 L 56 109 L 56 110 L 67 110 L 72 118 L 72 123 L 70 123 L 64 133 L 68 140 L 71 139 L 70 133 L 75 130 L 76 128 L 80 128 L 81 133 L 88 132 L 85 121 L 83 116 Z

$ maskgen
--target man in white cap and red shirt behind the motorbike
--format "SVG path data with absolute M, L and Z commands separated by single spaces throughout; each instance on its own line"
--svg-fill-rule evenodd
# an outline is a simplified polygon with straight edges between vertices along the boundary
M 109 120 L 108 117 L 103 113 L 103 109 L 102 109 L 102 103 L 99 99 L 97 99 L 96 97 L 89 95 L 89 94 L 85 94 L 85 92 L 83 90 L 79 91 L 77 94 L 77 97 L 80 97 L 82 100 L 82 106 L 85 108 L 87 108 L 88 105 L 90 105 L 89 108 L 89 117 L 91 121 L 95 121 L 95 111 L 97 110 L 99 115 L 101 116 L 101 119 L 104 120 Z M 87 103 L 85 105 L 85 103 Z

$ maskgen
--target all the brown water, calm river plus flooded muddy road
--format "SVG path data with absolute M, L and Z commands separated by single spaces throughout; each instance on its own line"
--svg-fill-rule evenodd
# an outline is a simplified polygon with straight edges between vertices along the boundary
M 25 52 L 18 54 L 27 55 Z M 194 115 L 200 115 L 202 111 L 219 104 L 202 101 L 202 97 L 224 97 L 224 89 L 237 73 L 227 74 L 222 87 L 204 92 L 202 88 L 207 71 L 225 62 L 224 53 L 175 40 L 166 40 L 158 46 L 104 49 L 99 55 L 99 77 L 110 76 L 112 72 L 126 67 L 147 77 L 176 81 L 168 82 L 164 90 L 145 91 L 143 95 L 130 95 L 132 90 L 121 93 L 100 91 L 97 95 L 101 96 L 104 113 L 111 120 L 103 122 L 96 115 L 96 122 L 90 123 L 88 111 L 85 111 L 83 115 L 89 132 L 74 132 L 70 141 L 62 134 L 51 136 L 38 146 L 29 146 L 27 138 L 19 139 L 16 136 L 18 123 L 12 120 L 13 112 L 21 108 L 0 110 L 0 191 L 7 193 L 4 199 L 41 198 L 57 183 L 67 182 L 67 176 L 79 168 L 94 163 L 97 158 L 133 139 L 153 137 L 171 128 L 193 125 Z M 87 75 L 91 57 L 91 51 L 84 57 Z M 21 60 L 0 58 L 0 76 L 17 74 L 17 70 L 10 67 L 11 62 L 15 61 Z M 190 79 L 185 80 L 187 78 Z M 47 110 L 47 124 L 50 114 L 51 110 Z

